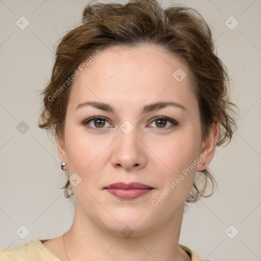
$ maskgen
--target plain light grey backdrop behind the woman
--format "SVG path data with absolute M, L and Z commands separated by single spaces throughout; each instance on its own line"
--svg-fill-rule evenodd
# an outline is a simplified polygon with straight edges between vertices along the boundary
M 194 7 L 210 23 L 232 81 L 232 101 L 240 109 L 234 139 L 217 148 L 210 165 L 218 189 L 186 211 L 180 244 L 212 261 L 260 260 L 261 1 L 159 2 Z M 87 3 L 0 0 L 0 248 L 58 237 L 72 222 L 73 206 L 59 190 L 66 179 L 56 145 L 37 120 L 39 91 L 50 78 L 55 43 L 81 20 Z M 21 16 L 30 22 L 24 30 L 16 25 Z M 236 20 L 225 23 L 230 16 L 239 22 L 233 30 Z M 16 233 L 27 231 L 21 225 L 30 231 L 24 239 Z

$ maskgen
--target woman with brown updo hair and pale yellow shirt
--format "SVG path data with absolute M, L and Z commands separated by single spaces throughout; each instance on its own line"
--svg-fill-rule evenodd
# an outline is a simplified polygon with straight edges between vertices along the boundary
M 202 260 L 178 241 L 233 134 L 226 81 L 195 10 L 89 4 L 57 48 L 39 122 L 56 137 L 73 223 L 1 260 Z

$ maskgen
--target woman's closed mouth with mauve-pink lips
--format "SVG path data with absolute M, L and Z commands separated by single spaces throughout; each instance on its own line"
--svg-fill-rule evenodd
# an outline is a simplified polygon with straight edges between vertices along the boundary
M 125 199 L 125 200 L 141 197 L 149 193 L 151 190 L 153 190 L 153 188 L 139 182 L 133 182 L 129 184 L 118 182 L 118 183 L 111 184 L 110 186 L 104 189 L 106 189 L 109 193 L 111 193 L 115 197 Z

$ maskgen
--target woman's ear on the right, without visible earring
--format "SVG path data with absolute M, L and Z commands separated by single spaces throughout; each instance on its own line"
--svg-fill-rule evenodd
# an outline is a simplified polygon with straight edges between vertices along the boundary
M 201 161 L 201 164 L 197 165 L 197 171 L 204 170 L 206 165 L 210 164 L 214 157 L 219 138 L 218 122 L 218 118 L 215 117 L 211 125 L 210 133 L 202 143 L 200 155 L 204 155 L 204 159 Z

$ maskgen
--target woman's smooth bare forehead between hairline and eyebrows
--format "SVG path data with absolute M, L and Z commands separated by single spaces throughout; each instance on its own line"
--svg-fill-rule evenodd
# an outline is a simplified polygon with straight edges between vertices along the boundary
M 112 102 L 117 107 L 123 101 L 139 105 L 170 97 L 173 101 L 195 99 L 188 68 L 162 47 L 113 46 L 95 57 L 74 80 L 70 106 L 86 100 Z

